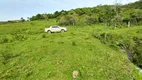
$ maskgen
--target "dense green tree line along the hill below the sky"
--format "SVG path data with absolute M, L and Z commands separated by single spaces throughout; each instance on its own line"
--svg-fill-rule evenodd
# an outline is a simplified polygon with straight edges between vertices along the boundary
M 126 5 L 98 5 L 69 11 L 56 11 L 53 14 L 37 14 L 29 19 L 31 21 L 56 19 L 60 25 L 107 23 L 108 26 L 130 27 L 142 24 L 141 4 L 142 0 Z

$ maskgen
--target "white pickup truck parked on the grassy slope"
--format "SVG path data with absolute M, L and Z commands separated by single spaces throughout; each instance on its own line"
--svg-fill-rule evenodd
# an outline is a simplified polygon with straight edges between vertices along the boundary
M 44 29 L 45 32 L 52 33 L 52 32 L 65 32 L 67 31 L 66 27 L 60 26 L 50 26 L 49 28 Z

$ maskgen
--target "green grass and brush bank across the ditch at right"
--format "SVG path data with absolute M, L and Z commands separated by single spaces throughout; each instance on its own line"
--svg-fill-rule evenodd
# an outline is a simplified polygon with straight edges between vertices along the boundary
M 121 28 L 94 32 L 101 42 L 116 50 L 125 50 L 129 59 L 137 66 L 142 65 L 142 27 Z M 133 55 L 133 56 L 131 56 Z M 142 67 L 141 67 L 142 68 Z

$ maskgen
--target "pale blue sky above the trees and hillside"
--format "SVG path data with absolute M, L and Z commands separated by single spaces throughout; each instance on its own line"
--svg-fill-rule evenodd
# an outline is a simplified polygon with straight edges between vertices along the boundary
M 137 0 L 117 0 L 121 4 Z M 114 4 L 115 0 L 0 0 L 0 21 L 27 19 L 38 13 L 53 13 L 100 4 Z

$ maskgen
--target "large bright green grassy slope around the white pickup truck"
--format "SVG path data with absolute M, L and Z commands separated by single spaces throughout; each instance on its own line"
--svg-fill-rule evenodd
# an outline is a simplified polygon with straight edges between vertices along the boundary
M 53 24 L 54 20 L 0 25 L 1 40 L 8 39 L 0 44 L 0 52 L 6 54 L 0 55 L 0 79 L 72 80 L 72 72 L 78 70 L 79 80 L 140 80 L 124 53 L 93 38 L 93 31 L 102 26 L 43 32 Z M 17 39 L 17 34 L 26 38 Z

